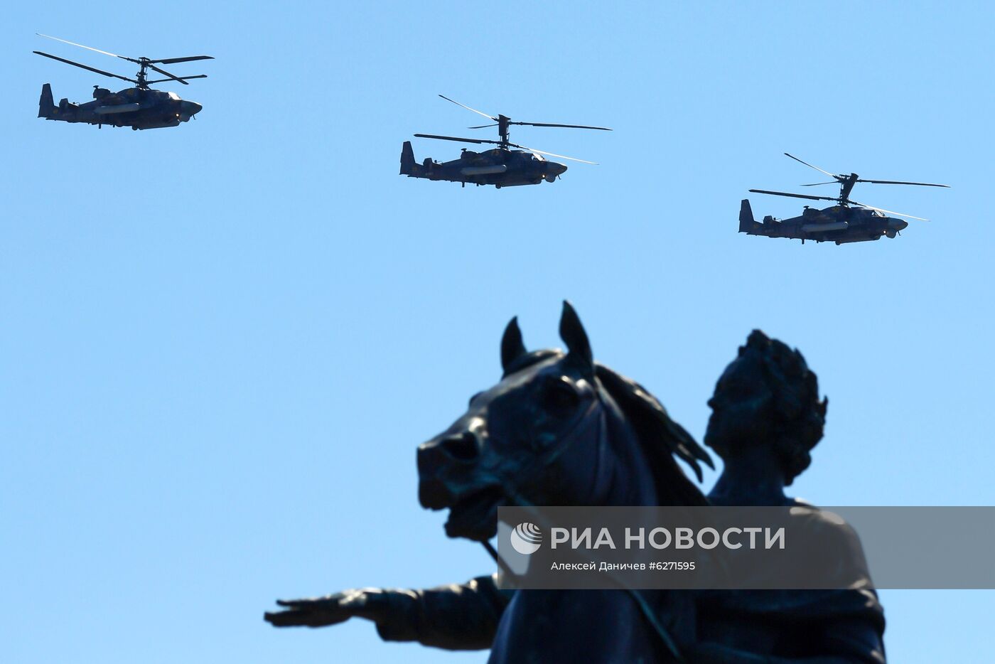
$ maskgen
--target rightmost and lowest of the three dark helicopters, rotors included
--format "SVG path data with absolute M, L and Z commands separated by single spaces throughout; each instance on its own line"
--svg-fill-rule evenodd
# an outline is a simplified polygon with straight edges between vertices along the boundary
M 882 236 L 895 238 L 900 231 L 908 226 L 908 222 L 903 219 L 896 219 L 888 215 L 894 214 L 896 217 L 906 217 L 908 219 L 918 219 L 919 221 L 929 221 L 922 217 L 913 217 L 910 214 L 901 214 L 891 210 L 883 210 L 865 203 L 859 203 L 850 198 L 850 192 L 858 182 L 871 182 L 872 184 L 914 184 L 922 187 L 948 187 L 946 184 L 931 184 L 929 182 L 899 182 L 897 180 L 865 180 L 861 179 L 857 173 L 849 175 L 834 175 L 828 170 L 823 170 L 818 166 L 802 161 L 793 154 L 788 154 L 795 161 L 805 164 L 809 168 L 815 168 L 820 173 L 825 173 L 833 178 L 832 182 L 816 182 L 814 184 L 803 184 L 803 187 L 816 187 L 822 184 L 840 185 L 840 195 L 836 198 L 830 196 L 808 196 L 806 194 L 790 194 L 783 191 L 767 191 L 766 189 L 750 189 L 758 194 L 771 194 L 773 196 L 790 196 L 791 198 L 806 198 L 809 200 L 831 200 L 836 201 L 833 207 L 816 210 L 805 206 L 805 210 L 800 217 L 790 219 L 774 219 L 771 216 L 763 218 L 759 223 L 753 219 L 753 210 L 750 208 L 749 199 L 744 198 L 739 205 L 739 232 L 749 235 L 763 235 L 768 238 L 793 238 L 801 240 L 815 240 L 816 242 L 835 242 L 838 245 L 849 242 L 870 242 L 880 240 Z M 857 206 L 857 207 L 851 207 Z

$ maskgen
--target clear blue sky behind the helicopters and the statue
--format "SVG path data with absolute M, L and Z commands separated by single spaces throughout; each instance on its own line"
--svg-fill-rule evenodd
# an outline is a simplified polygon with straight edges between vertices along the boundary
M 418 506 L 415 447 L 497 381 L 512 315 L 530 346 L 559 344 L 563 298 L 595 355 L 698 437 L 751 329 L 799 346 L 830 409 L 798 496 L 993 504 L 993 18 L 984 2 L 9 5 L 0 659 L 485 661 L 262 613 L 493 568 Z M 140 132 L 38 119 L 43 83 L 83 102 L 109 80 L 33 50 L 133 71 L 35 32 L 213 55 L 175 66 L 209 79 L 161 87 L 204 111 Z M 481 119 L 439 93 L 615 131 L 516 127 L 601 164 L 552 185 L 399 177 L 412 133 Z M 819 181 L 785 150 L 952 188 L 859 185 L 933 220 L 896 240 L 737 234 L 746 189 Z M 883 599 L 895 662 L 995 646 L 993 592 Z

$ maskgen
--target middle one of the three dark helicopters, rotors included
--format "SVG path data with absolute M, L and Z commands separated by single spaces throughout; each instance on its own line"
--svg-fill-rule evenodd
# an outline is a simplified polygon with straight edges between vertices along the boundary
M 488 119 L 494 120 L 495 124 L 482 124 L 471 126 L 471 129 L 483 129 L 489 126 L 497 126 L 497 134 L 500 140 L 483 140 L 481 138 L 460 138 L 457 136 L 439 136 L 432 133 L 416 133 L 419 138 L 436 138 L 438 140 L 456 140 L 464 143 L 482 143 L 497 145 L 497 147 L 483 152 L 474 152 L 463 148 L 459 159 L 441 163 L 427 157 L 422 163 L 415 160 L 414 150 L 411 148 L 411 141 L 404 141 L 401 148 L 401 175 L 408 177 L 423 177 L 429 180 L 446 180 L 449 182 L 459 182 L 462 186 L 467 183 L 493 184 L 497 189 L 501 187 L 515 187 L 523 184 L 539 184 L 542 180 L 555 182 L 563 172 L 566 165 L 549 161 L 543 155 L 580 161 L 582 163 L 593 164 L 594 161 L 586 161 L 575 157 L 553 154 L 542 150 L 518 145 L 508 140 L 508 126 L 511 124 L 527 124 L 529 126 L 566 126 L 574 129 L 600 129 L 611 131 L 607 126 L 589 126 L 587 124 L 553 124 L 548 122 L 518 122 L 512 121 L 507 115 L 498 114 L 497 117 L 486 112 L 471 109 L 440 95 L 447 102 L 452 102 L 458 107 L 463 107 L 467 111 L 474 111 L 484 115 Z M 518 147 L 520 150 L 509 149 Z M 525 151 L 521 151 L 525 150 Z

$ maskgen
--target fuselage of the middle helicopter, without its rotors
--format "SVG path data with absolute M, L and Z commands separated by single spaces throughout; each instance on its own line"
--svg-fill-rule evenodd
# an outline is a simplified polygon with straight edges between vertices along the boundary
M 564 164 L 548 161 L 532 152 L 500 147 L 483 152 L 464 149 L 459 159 L 439 162 L 426 158 L 422 163 L 415 160 L 410 140 L 404 142 L 401 150 L 401 175 L 464 185 L 493 184 L 498 189 L 539 184 L 543 180 L 555 182 L 566 169 Z

